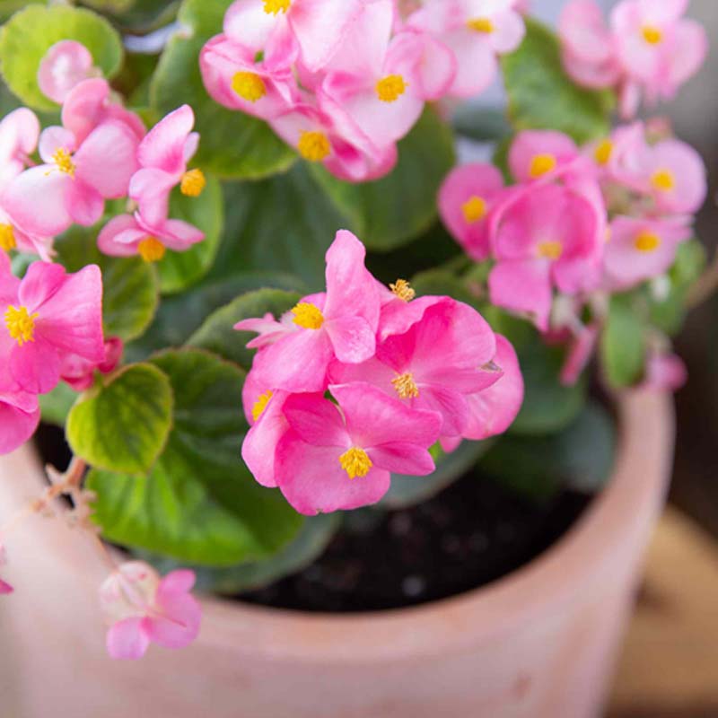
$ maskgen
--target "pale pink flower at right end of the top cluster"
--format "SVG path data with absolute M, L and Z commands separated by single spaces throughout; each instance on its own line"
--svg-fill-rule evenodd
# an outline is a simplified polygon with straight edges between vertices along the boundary
M 407 20 L 430 32 L 456 55 L 450 94 L 467 98 L 486 90 L 498 72 L 496 56 L 512 52 L 526 32 L 515 0 L 427 0 Z

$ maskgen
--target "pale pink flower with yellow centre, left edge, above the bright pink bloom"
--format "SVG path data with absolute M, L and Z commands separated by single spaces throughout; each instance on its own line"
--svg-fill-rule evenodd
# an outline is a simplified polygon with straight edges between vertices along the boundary
M 5 188 L 4 210 L 23 230 L 44 237 L 73 223 L 92 226 L 105 199 L 127 195 L 136 150 L 135 134 L 116 120 L 96 127 L 82 142 L 65 127 L 48 127 L 39 138 L 45 164 L 25 170 Z

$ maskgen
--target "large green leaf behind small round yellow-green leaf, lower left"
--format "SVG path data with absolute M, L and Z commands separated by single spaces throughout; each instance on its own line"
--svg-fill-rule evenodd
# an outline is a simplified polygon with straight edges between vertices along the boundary
M 201 565 L 276 555 L 302 517 L 241 462 L 244 372 L 196 349 L 165 352 L 153 363 L 170 378 L 174 425 L 146 477 L 92 470 L 88 488 L 98 496 L 95 517 L 104 535 Z

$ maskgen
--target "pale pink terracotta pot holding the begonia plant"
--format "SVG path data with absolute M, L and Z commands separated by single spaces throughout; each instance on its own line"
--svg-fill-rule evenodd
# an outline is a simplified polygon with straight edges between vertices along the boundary
M 13 533 L 0 603 L 0 706 L 12 718 L 588 718 L 599 716 L 640 558 L 670 473 L 670 398 L 618 402 L 615 475 L 556 546 L 450 600 L 353 616 L 207 598 L 178 652 L 110 661 L 96 601 L 105 569 L 61 521 Z M 39 485 L 25 448 L 0 461 L 0 511 Z

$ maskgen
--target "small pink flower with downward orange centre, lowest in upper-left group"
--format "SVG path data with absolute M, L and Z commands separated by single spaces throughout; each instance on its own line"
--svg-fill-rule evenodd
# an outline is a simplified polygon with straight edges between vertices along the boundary
M 183 220 L 164 219 L 152 226 L 136 212 L 109 220 L 97 237 L 97 246 L 110 257 L 139 255 L 145 262 L 159 262 L 168 249 L 183 252 L 204 239 L 204 232 Z

